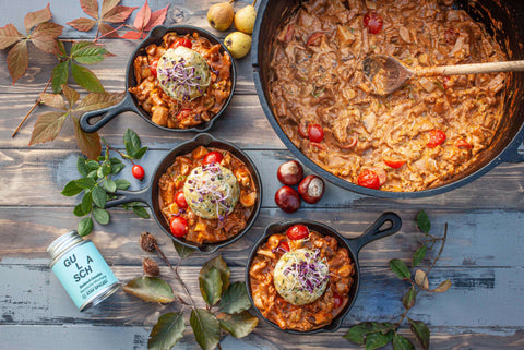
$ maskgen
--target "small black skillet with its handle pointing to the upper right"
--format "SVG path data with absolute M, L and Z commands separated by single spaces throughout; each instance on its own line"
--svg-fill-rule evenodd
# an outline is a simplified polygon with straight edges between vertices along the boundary
M 346 305 L 344 309 L 336 315 L 331 324 L 323 326 L 321 328 L 308 330 L 308 331 L 299 331 L 299 330 L 291 330 L 291 329 L 282 329 L 278 327 L 276 324 L 273 322 L 269 321 L 265 318 L 262 313 L 254 306 L 253 298 L 251 295 L 251 279 L 249 276 L 249 270 L 251 269 L 251 264 L 253 263 L 254 257 L 257 256 L 257 251 L 259 248 L 265 243 L 265 241 L 275 233 L 282 233 L 285 232 L 289 227 L 301 224 L 306 225 L 310 230 L 317 231 L 323 236 L 331 236 L 336 239 L 338 242 L 338 246 L 347 249 L 349 252 L 349 258 L 352 262 L 355 264 L 355 275 L 353 276 L 354 282 L 352 285 L 352 288 L 349 290 L 348 298 L 349 300 L 347 301 Z M 385 228 L 383 228 L 384 225 L 389 225 Z M 246 267 L 246 286 L 248 288 L 248 295 L 249 299 L 251 300 L 251 304 L 253 304 L 253 309 L 258 313 L 259 317 L 265 319 L 270 325 L 273 327 L 284 330 L 286 333 L 290 334 L 298 334 L 298 335 L 303 335 L 303 334 L 315 334 L 319 331 L 335 331 L 337 330 L 341 325 L 342 321 L 344 317 L 347 315 L 349 310 L 352 309 L 353 304 L 355 303 L 355 300 L 357 299 L 358 294 L 358 288 L 360 285 L 360 267 L 358 265 L 358 253 L 360 250 L 368 243 L 379 240 L 381 238 L 391 236 L 398 231 L 402 227 L 402 220 L 396 215 L 395 213 L 392 212 L 386 212 L 383 213 L 367 230 L 364 232 L 360 237 L 356 239 L 346 239 L 342 237 L 338 232 L 336 232 L 334 229 L 332 229 L 329 226 L 325 226 L 323 224 L 317 222 L 317 221 L 309 221 L 309 220 L 295 220 L 295 221 L 286 221 L 286 222 L 276 222 L 270 225 L 266 229 L 264 234 L 259 239 L 259 241 L 254 244 L 253 249 L 251 250 L 251 253 L 249 254 L 248 258 L 248 265 Z

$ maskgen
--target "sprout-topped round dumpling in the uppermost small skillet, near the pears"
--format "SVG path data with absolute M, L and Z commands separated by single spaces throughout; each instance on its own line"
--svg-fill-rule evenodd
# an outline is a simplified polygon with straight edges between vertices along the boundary
M 202 55 L 183 46 L 166 50 L 156 71 L 162 89 L 178 101 L 204 95 L 211 82 L 210 68 Z

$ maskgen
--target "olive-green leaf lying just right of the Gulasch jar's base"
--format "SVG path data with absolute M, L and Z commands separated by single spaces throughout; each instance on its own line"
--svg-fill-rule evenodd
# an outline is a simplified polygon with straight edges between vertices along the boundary
M 139 277 L 123 286 L 123 290 L 147 302 L 171 303 L 175 301 L 172 288 L 158 277 Z

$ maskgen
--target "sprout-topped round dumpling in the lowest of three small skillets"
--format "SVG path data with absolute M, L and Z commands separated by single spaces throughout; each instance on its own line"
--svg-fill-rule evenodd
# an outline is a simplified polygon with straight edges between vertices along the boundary
M 273 274 L 275 289 L 294 305 L 305 305 L 319 299 L 325 291 L 330 269 L 320 258 L 320 252 L 298 249 L 282 255 Z

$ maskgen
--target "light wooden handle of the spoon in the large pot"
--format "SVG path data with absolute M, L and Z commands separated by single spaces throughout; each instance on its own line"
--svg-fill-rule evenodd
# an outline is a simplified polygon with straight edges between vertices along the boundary
M 418 76 L 431 76 L 431 75 L 497 73 L 497 72 L 511 72 L 511 71 L 524 71 L 524 60 L 419 68 L 415 71 L 415 74 Z

